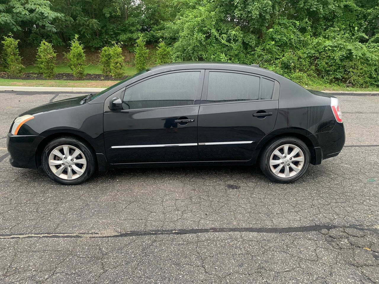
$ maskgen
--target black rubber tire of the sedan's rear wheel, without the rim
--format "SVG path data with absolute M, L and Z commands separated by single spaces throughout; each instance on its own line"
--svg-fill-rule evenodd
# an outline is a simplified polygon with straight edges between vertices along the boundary
M 301 170 L 295 174 L 294 176 L 288 177 L 288 178 L 282 178 L 280 176 L 275 175 L 272 170 L 270 169 L 270 158 L 271 154 L 273 154 L 274 150 L 276 150 L 281 145 L 285 144 L 292 144 L 294 146 L 297 146 L 301 149 L 301 151 L 304 154 L 304 162 Z M 279 137 L 277 139 L 272 140 L 269 142 L 262 150 L 259 166 L 262 172 L 267 176 L 271 181 L 274 181 L 276 183 L 292 183 L 293 181 L 296 181 L 297 179 L 301 178 L 304 173 L 307 171 L 309 167 L 309 161 L 310 161 L 310 153 L 307 145 L 305 143 L 296 138 L 296 137 Z M 291 169 L 292 170 L 292 169 Z

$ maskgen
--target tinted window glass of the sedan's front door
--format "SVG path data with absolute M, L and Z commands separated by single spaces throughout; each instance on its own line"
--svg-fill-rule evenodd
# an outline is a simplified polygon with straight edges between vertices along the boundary
M 170 73 L 125 90 L 124 109 L 193 105 L 200 71 Z

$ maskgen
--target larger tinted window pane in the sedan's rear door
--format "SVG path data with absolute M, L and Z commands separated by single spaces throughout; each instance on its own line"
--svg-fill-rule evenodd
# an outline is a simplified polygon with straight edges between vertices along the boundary
M 231 72 L 209 72 L 207 102 L 257 100 L 259 77 Z

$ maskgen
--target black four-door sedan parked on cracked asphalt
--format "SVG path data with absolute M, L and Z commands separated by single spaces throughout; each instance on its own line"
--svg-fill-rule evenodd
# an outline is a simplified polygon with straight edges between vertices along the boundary
M 7 145 L 14 167 L 79 184 L 121 167 L 252 165 L 290 183 L 345 143 L 335 97 L 240 64 L 157 66 L 108 89 L 30 109 Z

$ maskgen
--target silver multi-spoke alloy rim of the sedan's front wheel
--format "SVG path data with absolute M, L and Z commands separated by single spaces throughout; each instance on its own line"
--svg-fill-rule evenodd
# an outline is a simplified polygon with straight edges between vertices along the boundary
M 83 152 L 72 145 L 61 145 L 50 152 L 50 170 L 59 178 L 76 179 L 83 175 L 86 166 Z

